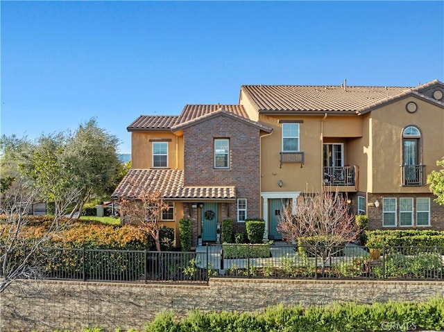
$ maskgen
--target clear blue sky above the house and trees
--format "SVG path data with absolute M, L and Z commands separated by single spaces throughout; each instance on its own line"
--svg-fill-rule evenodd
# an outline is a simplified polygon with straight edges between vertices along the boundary
M 238 103 L 246 84 L 444 80 L 443 1 L 1 1 L 1 134 Z

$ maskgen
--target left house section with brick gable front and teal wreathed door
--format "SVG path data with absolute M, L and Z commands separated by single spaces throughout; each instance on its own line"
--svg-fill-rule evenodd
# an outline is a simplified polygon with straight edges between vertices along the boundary
M 132 133 L 132 169 L 112 199 L 160 191 L 169 211 L 162 223 L 176 229 L 190 218 L 192 245 L 216 241 L 218 223 L 260 216 L 259 139 L 271 128 L 248 119 L 241 105 L 187 105 L 180 116 L 139 116 Z M 247 215 L 248 211 L 248 215 Z

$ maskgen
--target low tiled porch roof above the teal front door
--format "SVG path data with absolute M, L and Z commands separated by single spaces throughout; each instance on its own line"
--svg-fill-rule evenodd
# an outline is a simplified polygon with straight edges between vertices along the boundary
M 234 186 L 184 186 L 183 173 L 183 170 L 131 169 L 111 199 L 135 199 L 146 191 L 160 191 L 165 200 L 236 200 Z

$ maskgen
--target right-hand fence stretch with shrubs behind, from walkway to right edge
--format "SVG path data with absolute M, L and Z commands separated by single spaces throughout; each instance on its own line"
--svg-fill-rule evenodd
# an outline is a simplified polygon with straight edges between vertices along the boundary
M 220 277 L 444 280 L 444 247 L 214 245 Z M 214 254 L 209 254 L 214 256 Z

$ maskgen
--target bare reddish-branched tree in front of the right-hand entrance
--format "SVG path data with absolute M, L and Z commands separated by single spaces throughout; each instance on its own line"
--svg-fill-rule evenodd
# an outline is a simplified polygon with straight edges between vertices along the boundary
M 355 216 L 349 213 L 347 201 L 337 192 L 325 190 L 302 196 L 295 212 L 290 205 L 284 208 L 278 231 L 287 241 L 298 240 L 309 252 L 321 256 L 323 271 L 325 263 L 359 235 Z

